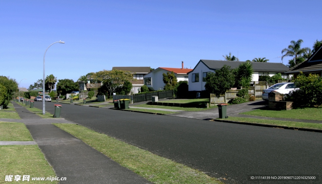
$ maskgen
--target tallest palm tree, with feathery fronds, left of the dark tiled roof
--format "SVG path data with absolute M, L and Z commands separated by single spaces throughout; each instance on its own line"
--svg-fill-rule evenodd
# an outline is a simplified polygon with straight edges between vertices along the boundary
M 282 60 L 284 57 L 290 56 L 290 57 L 293 57 L 293 61 L 294 61 L 293 64 L 294 65 L 300 63 L 300 60 L 302 60 L 302 59 L 299 60 L 298 58 L 301 57 L 302 54 L 304 54 L 305 52 L 308 52 L 308 50 L 310 49 L 308 47 L 301 48 L 302 42 L 303 42 L 302 39 L 299 39 L 296 42 L 294 40 L 292 40 L 291 44 L 288 46 L 288 48 L 285 48 L 282 50 L 282 54 L 283 54 Z

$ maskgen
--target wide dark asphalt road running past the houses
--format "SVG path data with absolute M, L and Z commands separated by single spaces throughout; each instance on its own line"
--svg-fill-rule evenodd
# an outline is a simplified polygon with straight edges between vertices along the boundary
M 46 111 L 54 113 L 53 104 L 46 102 Z M 231 183 L 321 183 L 247 177 L 320 175 L 322 133 L 61 105 L 65 119 Z M 34 106 L 42 108 L 42 103 Z

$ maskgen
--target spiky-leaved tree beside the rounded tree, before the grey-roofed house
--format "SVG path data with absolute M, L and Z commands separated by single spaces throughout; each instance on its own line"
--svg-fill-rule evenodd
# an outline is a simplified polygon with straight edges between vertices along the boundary
M 252 80 L 254 69 L 251 62 L 242 62 L 239 64 L 238 68 L 232 70 L 232 73 L 235 77 L 236 87 L 248 88 Z

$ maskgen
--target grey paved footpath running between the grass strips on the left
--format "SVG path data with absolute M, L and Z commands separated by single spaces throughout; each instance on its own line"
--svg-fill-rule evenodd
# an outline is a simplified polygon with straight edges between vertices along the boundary
M 57 177 L 66 177 L 60 183 L 151 183 L 133 171 L 93 149 L 71 134 L 62 131 L 49 122 L 73 123 L 66 120 L 42 119 L 26 108 L 13 102 L 34 141 L 55 170 Z M 3 119 L 1 119 L 3 120 Z M 57 121 L 58 120 L 58 121 Z

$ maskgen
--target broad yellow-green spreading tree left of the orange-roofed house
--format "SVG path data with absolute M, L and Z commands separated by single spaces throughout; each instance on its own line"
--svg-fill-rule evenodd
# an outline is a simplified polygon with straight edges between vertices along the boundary
M 93 74 L 92 78 L 103 83 L 99 88 L 99 93 L 110 97 L 118 86 L 133 80 L 133 73 L 123 70 L 102 70 Z

